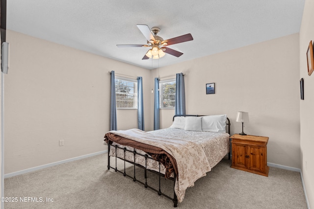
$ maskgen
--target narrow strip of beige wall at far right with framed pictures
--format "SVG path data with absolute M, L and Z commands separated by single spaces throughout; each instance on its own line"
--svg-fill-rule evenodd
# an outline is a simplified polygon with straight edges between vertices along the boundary
M 301 170 L 310 208 L 314 208 L 314 73 L 308 75 L 306 52 L 314 41 L 314 1 L 306 0 L 300 28 L 300 78 L 304 78 L 304 100 L 300 101 Z

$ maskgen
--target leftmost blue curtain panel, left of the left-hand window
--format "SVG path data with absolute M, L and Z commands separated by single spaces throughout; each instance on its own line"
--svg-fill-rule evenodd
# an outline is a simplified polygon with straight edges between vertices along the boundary
M 116 85 L 114 79 L 114 71 L 111 71 L 110 85 L 110 131 L 117 131 L 117 107 L 116 107 Z

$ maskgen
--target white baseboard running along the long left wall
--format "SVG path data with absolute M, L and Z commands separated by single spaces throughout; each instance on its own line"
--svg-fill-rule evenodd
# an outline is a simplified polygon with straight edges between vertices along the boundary
M 13 172 L 13 173 L 7 173 L 7 174 L 4 174 L 4 178 L 17 176 L 17 175 L 21 175 L 21 174 L 24 174 L 24 173 L 40 170 L 40 169 L 43 169 L 43 168 L 52 167 L 54 165 L 59 165 L 59 164 L 63 164 L 63 163 L 69 163 L 71 161 L 77 161 L 77 160 L 80 160 L 80 159 L 83 159 L 83 158 L 88 158 L 88 157 L 92 157 L 92 156 L 100 155 L 100 154 L 104 154 L 104 153 L 107 153 L 107 150 L 91 153 L 91 154 L 88 154 L 88 155 L 82 155 L 82 156 L 78 156 L 78 157 L 75 157 L 75 158 L 70 158 L 70 159 L 63 160 L 63 161 L 58 161 L 58 162 L 54 162 L 54 163 L 40 165 L 40 166 L 36 166 L 36 167 L 32 167 L 32 168 L 27 168 L 25 170 L 16 171 L 16 172 Z

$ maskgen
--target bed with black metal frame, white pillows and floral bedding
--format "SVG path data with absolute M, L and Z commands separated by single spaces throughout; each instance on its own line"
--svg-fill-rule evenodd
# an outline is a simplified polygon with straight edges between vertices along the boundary
M 227 115 L 178 115 L 166 129 L 144 132 L 139 129 L 110 131 L 105 134 L 108 165 L 134 182 L 143 184 L 173 201 L 182 202 L 186 188 L 205 176 L 227 154 L 230 159 L 230 120 Z M 110 165 L 110 156 L 134 165 L 134 176 Z M 145 182 L 135 177 L 135 167 L 144 169 Z M 157 173 L 159 188 L 147 184 L 147 171 Z M 160 189 L 160 178 L 174 182 L 173 197 Z

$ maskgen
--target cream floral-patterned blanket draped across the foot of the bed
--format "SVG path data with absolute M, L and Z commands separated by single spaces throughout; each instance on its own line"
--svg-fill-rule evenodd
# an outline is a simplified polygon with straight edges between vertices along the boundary
M 206 173 L 211 170 L 204 150 L 193 141 L 161 137 L 160 135 L 154 135 L 139 129 L 110 131 L 110 133 L 160 147 L 173 156 L 178 167 L 178 188 L 175 189 L 175 192 L 179 202 L 183 201 L 183 193 L 185 193 L 186 188 L 194 186 L 196 180 L 206 176 Z

